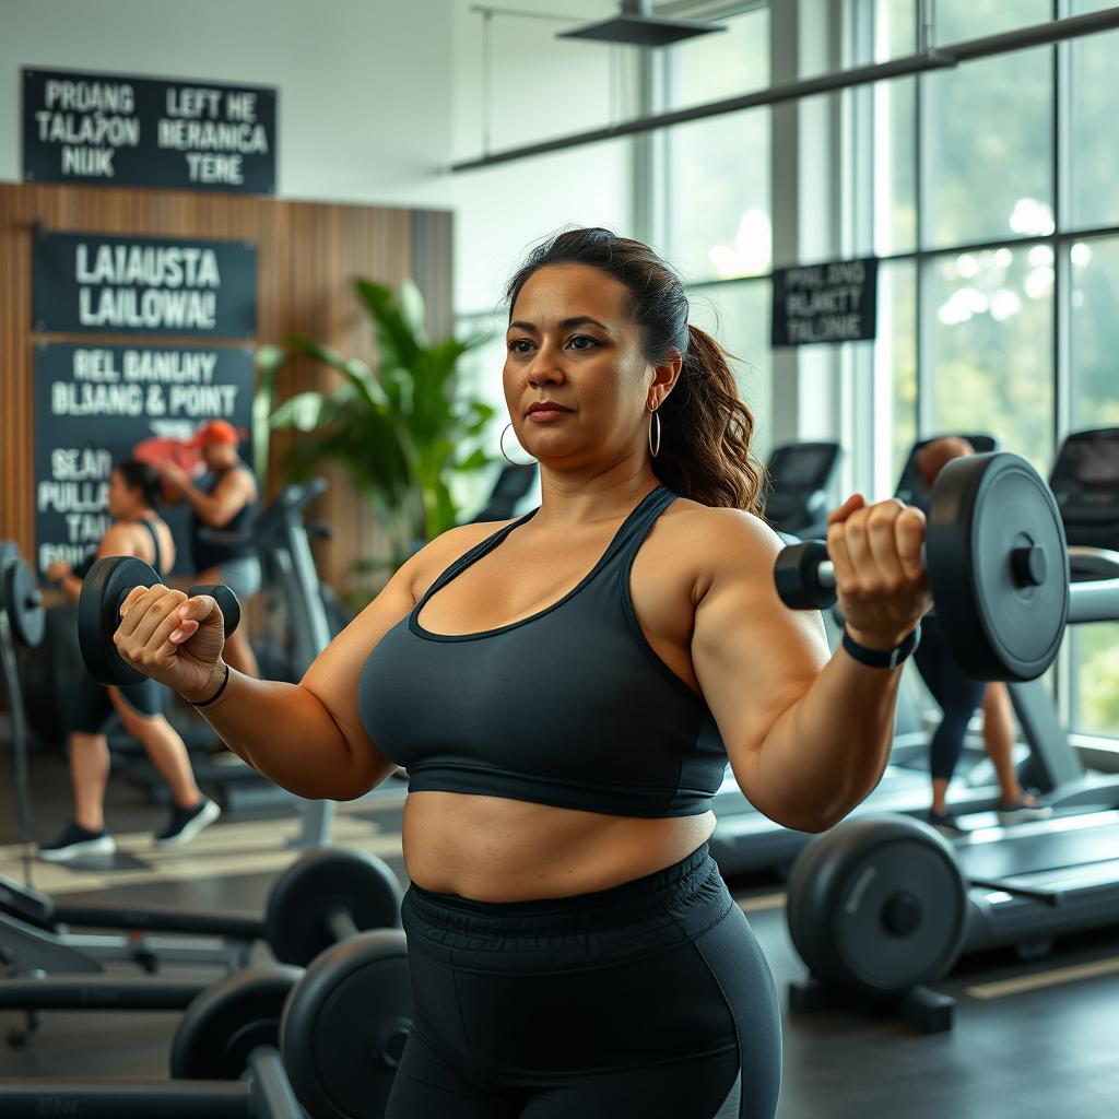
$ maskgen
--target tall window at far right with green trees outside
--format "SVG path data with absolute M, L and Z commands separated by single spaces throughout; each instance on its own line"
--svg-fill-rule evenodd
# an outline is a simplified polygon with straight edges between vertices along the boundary
M 1100 7 L 939 0 L 933 36 Z M 876 59 L 915 47 L 918 10 L 876 0 Z M 1066 431 L 1119 424 L 1119 195 L 1101 143 L 1119 113 L 1117 51 L 1119 34 L 1093 35 L 875 86 L 873 243 L 893 257 L 880 283 L 876 474 L 887 451 L 896 471 L 914 434 L 987 430 L 1047 476 Z M 905 274 L 912 301 L 896 298 Z M 915 431 L 899 430 L 909 416 Z M 1066 650 L 1073 726 L 1119 735 L 1119 624 L 1078 627 Z

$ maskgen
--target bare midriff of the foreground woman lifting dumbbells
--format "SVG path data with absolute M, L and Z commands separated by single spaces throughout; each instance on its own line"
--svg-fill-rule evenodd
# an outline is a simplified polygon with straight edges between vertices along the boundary
M 671 866 L 714 830 L 714 812 L 641 819 L 413 792 L 404 809 L 404 863 L 416 885 L 440 894 L 481 902 L 570 897 Z

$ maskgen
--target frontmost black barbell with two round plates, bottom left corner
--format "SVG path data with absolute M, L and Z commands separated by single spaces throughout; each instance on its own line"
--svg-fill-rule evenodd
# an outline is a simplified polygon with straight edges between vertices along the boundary
M 100 976 L 74 980 L 68 997 L 48 985 L 49 1005 L 111 1007 L 121 982 Z M 96 997 L 100 990 L 103 998 Z M 237 971 L 197 994 L 171 1044 L 176 1079 L 4 1078 L 0 1115 L 375 1119 L 384 1112 L 411 1028 L 404 933 L 366 932 L 323 952 L 305 971 Z

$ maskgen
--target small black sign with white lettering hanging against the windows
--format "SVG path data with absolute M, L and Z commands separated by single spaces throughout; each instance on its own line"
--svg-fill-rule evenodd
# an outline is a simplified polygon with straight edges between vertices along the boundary
M 773 273 L 774 346 L 869 341 L 877 332 L 878 261 L 837 261 Z

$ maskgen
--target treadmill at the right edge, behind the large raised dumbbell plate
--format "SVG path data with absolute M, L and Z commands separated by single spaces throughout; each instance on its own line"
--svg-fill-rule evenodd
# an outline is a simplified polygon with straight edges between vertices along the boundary
M 1119 429 L 1070 435 L 1050 487 L 1079 584 L 1070 623 L 1119 620 Z M 1060 933 L 1119 924 L 1119 774 L 1087 770 L 1044 679 L 1009 689 L 1049 786 L 1038 800 L 1054 815 L 999 829 L 982 816 L 958 821 L 956 854 L 970 881 L 961 952 L 1012 944 L 1028 958 Z

